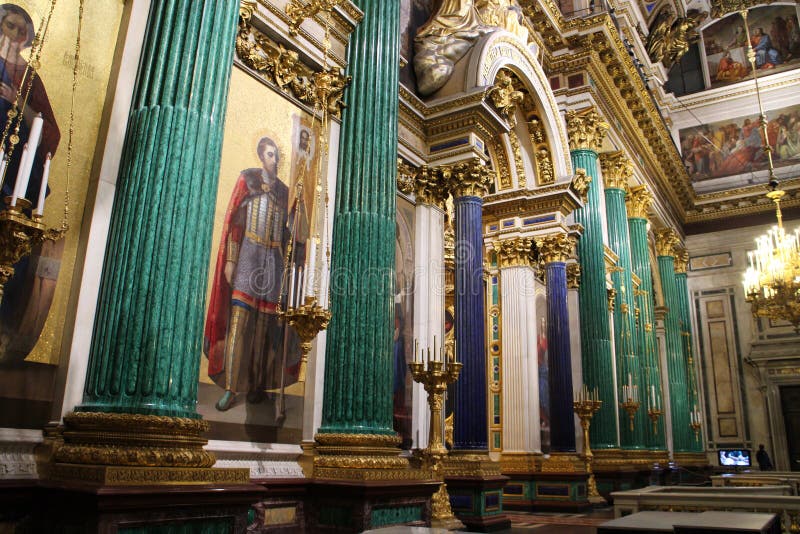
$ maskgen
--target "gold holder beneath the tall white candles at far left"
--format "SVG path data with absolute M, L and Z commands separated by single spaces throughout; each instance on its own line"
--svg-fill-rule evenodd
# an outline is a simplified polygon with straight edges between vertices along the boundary
M 41 215 L 26 215 L 25 211 L 31 208 L 27 199 L 18 198 L 15 206 L 11 205 L 11 197 L 5 202 L 6 209 L 0 211 L 0 302 L 6 283 L 14 276 L 14 265 L 28 256 L 34 245 L 57 241 L 67 232 L 66 221 L 60 228 L 47 228 Z

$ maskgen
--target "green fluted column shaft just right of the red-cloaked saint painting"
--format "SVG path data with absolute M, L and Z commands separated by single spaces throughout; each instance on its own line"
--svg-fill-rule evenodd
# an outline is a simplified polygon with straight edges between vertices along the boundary
M 394 435 L 392 332 L 399 2 L 360 0 L 348 47 L 319 434 Z

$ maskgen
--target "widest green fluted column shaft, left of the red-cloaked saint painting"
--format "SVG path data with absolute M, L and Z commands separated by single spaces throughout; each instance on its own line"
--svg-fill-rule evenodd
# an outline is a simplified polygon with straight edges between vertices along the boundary
M 153 2 L 76 411 L 199 418 L 237 0 Z

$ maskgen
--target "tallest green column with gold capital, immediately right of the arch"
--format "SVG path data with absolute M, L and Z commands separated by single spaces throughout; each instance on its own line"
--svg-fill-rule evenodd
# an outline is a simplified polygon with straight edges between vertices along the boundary
M 614 406 L 614 368 L 611 352 L 611 325 L 608 320 L 605 245 L 603 242 L 603 183 L 599 180 L 597 151 L 608 130 L 594 108 L 566 114 L 572 166 L 585 169 L 589 183 L 588 199 L 575 210 L 575 222 L 583 226 L 578 242 L 581 285 L 578 290 L 581 317 L 581 360 L 583 381 L 597 388 L 602 408 L 591 426 L 593 450 L 614 449 L 617 442 L 617 409 Z

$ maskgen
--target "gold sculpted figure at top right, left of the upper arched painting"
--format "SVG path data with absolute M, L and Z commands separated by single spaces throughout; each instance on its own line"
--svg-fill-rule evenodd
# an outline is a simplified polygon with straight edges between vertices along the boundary
M 669 69 L 700 39 L 697 27 L 708 18 L 708 11 L 690 9 L 685 17 L 676 17 L 672 9 L 661 10 L 647 36 L 647 54 Z

